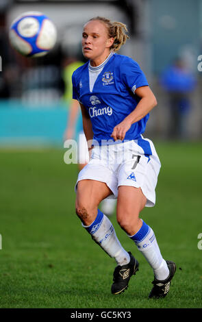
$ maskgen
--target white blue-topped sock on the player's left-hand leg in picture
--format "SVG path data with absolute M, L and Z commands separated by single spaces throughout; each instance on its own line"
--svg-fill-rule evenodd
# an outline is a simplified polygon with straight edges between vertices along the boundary
M 110 219 L 100 210 L 93 223 L 89 226 L 83 225 L 83 227 L 110 257 L 115 258 L 117 265 L 122 266 L 129 263 L 129 253 L 121 246 Z

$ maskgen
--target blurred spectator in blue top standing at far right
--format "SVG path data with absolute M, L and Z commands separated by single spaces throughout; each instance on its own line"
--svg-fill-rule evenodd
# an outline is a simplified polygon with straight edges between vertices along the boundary
M 184 60 L 177 58 L 164 71 L 160 83 L 168 93 L 171 112 L 168 129 L 169 138 L 188 138 L 186 121 L 191 110 L 191 93 L 196 85 L 194 75 L 192 75 Z

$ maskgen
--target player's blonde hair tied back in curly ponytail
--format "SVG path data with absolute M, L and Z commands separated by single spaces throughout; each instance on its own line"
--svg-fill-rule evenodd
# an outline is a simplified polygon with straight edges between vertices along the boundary
M 110 47 L 110 49 L 114 52 L 118 51 L 129 38 L 129 36 L 127 36 L 126 34 L 126 32 L 128 32 L 127 26 L 124 23 L 119 23 L 118 21 L 112 22 L 109 19 L 104 18 L 102 16 L 91 18 L 89 21 L 101 21 L 102 23 L 105 23 L 108 29 L 109 38 L 114 38 L 114 43 Z

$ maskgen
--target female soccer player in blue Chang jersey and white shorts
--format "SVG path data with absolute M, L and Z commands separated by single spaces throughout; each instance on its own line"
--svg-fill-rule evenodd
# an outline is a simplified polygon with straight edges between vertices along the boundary
M 157 102 L 140 66 L 118 55 L 127 38 L 123 23 L 102 17 L 84 25 L 82 51 L 89 61 L 73 73 L 73 99 L 81 106 L 90 162 L 79 173 L 76 213 L 92 239 L 116 260 L 112 294 L 123 292 L 139 263 L 125 251 L 114 227 L 99 209 L 107 197 L 117 198 L 118 224 L 153 269 L 149 297 L 165 297 L 175 263 L 162 258 L 151 227 L 139 218 L 144 206 L 155 205 L 160 160 L 142 133 Z

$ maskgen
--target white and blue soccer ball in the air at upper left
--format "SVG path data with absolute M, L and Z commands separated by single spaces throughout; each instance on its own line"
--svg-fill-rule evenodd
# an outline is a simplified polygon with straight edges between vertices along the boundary
M 52 21 L 41 12 L 25 12 L 11 24 L 10 43 L 27 57 L 46 55 L 55 45 L 57 32 Z

